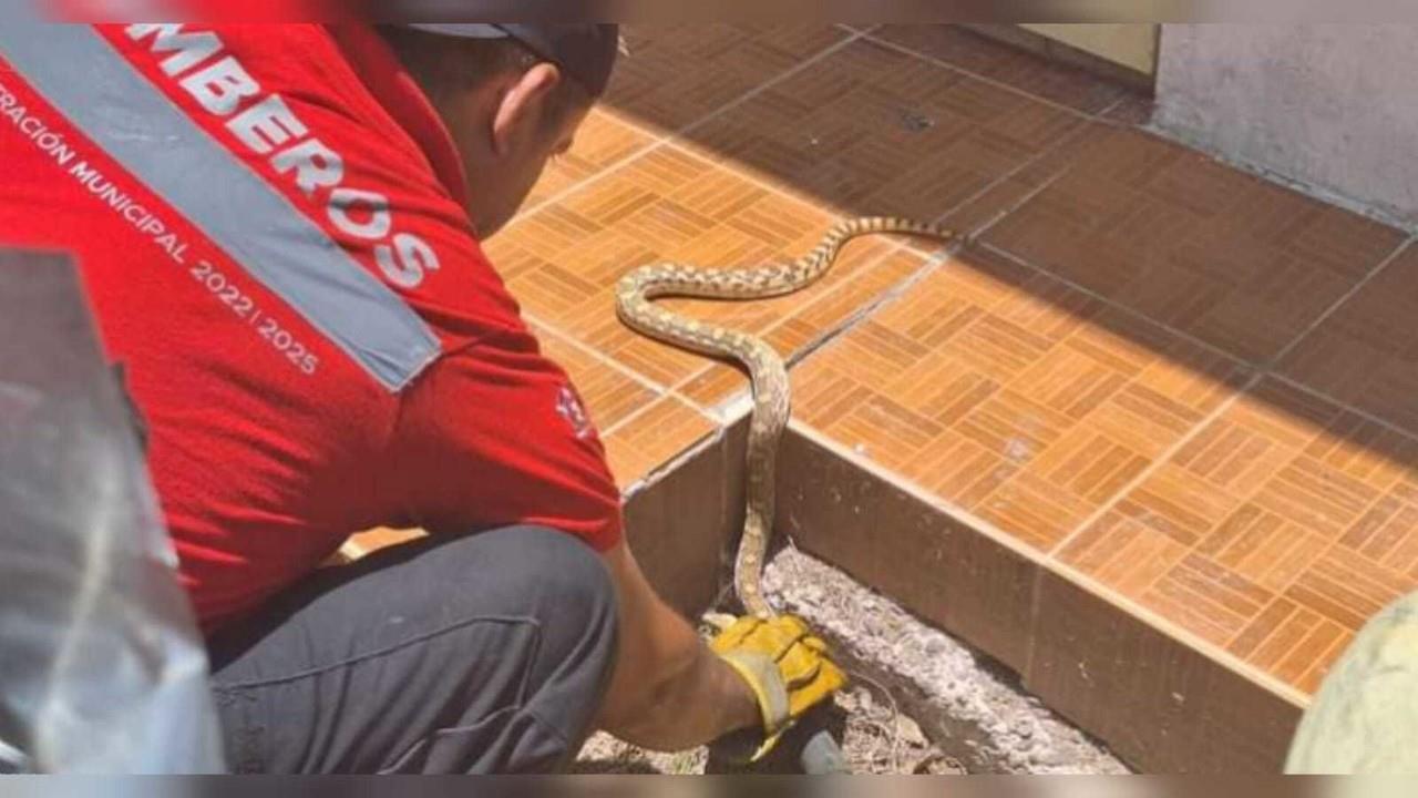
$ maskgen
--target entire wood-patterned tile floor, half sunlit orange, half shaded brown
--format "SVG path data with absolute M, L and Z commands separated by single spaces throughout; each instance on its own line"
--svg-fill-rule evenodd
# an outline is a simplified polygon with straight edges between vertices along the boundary
M 621 274 L 795 257 L 844 214 L 900 213 L 978 240 L 862 241 L 794 297 L 678 307 L 788 354 L 800 423 L 1302 692 L 1418 588 L 1402 233 L 959 30 L 628 38 L 605 108 L 488 244 L 623 486 L 710 434 L 743 378 L 624 329 Z

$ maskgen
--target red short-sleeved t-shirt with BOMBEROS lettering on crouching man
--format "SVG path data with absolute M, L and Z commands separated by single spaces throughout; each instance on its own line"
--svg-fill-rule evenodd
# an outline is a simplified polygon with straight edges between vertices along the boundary
M 467 190 L 369 28 L 0 31 L 0 241 L 78 257 L 206 629 L 373 527 L 620 540 Z

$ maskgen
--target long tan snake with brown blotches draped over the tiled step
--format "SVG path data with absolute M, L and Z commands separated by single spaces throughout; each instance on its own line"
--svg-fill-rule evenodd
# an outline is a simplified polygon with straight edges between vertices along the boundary
M 615 311 L 630 328 L 702 355 L 732 358 L 749 369 L 753 386 L 753 419 L 749 425 L 746 457 L 747 510 L 735 561 L 733 585 L 743 608 L 759 618 L 774 615 L 763 596 L 761 579 L 769 535 L 773 532 L 778 437 L 787 426 L 791 410 L 787 368 L 783 365 L 783 358 L 764 341 L 672 314 L 652 304 L 652 300 L 659 297 L 763 300 L 791 294 L 822 277 L 848 240 L 875 233 L 905 233 L 946 240 L 956 237 L 943 227 L 909 219 L 851 219 L 834 226 L 815 250 L 791 263 L 736 270 L 657 263 L 631 271 L 615 288 Z

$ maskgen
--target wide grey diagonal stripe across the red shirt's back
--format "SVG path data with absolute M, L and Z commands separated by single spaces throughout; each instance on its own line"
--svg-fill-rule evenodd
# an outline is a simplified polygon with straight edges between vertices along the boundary
M 397 392 L 440 354 L 403 298 L 88 26 L 0 20 L 0 53 L 75 126 Z

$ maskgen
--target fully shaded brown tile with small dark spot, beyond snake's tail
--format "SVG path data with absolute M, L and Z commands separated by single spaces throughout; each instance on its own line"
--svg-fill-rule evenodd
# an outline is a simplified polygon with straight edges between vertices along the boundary
M 686 133 L 709 158 L 844 214 L 937 219 L 1081 125 L 855 41 Z

